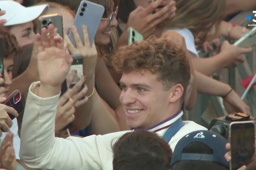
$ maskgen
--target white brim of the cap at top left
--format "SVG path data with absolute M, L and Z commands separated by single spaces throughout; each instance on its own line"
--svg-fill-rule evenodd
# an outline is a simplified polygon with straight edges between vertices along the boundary
M 23 8 L 20 12 L 17 13 L 11 20 L 7 21 L 4 26 L 14 26 L 17 24 L 28 23 L 32 20 L 35 20 L 41 14 L 44 14 L 49 9 L 48 4 L 30 6 Z

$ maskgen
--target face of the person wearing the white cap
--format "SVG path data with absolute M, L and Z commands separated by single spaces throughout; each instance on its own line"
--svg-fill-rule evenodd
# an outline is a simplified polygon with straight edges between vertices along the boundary
M 9 31 L 11 34 L 15 35 L 17 42 L 23 47 L 34 42 L 35 33 L 33 28 L 34 25 L 32 21 L 30 21 L 28 23 L 12 26 Z

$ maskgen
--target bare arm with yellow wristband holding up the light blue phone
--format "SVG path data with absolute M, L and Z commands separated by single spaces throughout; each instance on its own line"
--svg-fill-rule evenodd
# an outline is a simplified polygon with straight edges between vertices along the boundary
M 105 126 L 101 126 L 108 127 L 105 128 L 107 133 L 118 131 L 119 127 L 116 120 L 108 111 L 95 89 L 95 67 L 98 58 L 96 46 L 93 43 L 92 47 L 90 47 L 86 26 L 83 27 L 84 45 L 79 38 L 76 27 L 73 27 L 72 31 L 77 47 L 75 48 L 73 46 L 67 36 L 65 37 L 65 40 L 67 41 L 67 47 L 71 54 L 81 54 L 83 56 L 84 75 L 87 76 L 85 83 L 87 84 L 88 88 L 86 95 L 90 96 L 87 103 L 76 108 L 75 120 L 73 124 L 79 130 L 83 129 L 90 124 L 92 114 L 96 117 L 98 117 L 97 115 L 100 114 L 99 119 L 104 117 L 104 121 L 102 121 L 102 123 L 104 125 L 106 124 Z

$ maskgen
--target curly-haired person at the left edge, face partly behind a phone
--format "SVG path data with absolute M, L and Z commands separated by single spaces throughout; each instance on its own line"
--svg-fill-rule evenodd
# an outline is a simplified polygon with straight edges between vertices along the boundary
M 17 119 L 11 120 L 8 113 L 14 117 L 18 116 L 17 111 L 14 108 L 4 105 L 3 103 L 6 100 L 9 92 L 9 86 L 12 84 L 12 68 L 13 68 L 13 58 L 19 54 L 20 48 L 18 47 L 15 37 L 12 37 L 9 34 L 9 31 L 0 26 L 0 38 L 2 39 L 3 45 L 3 68 L 4 68 L 4 77 L 0 75 L 0 136 L 3 140 L 6 136 L 6 133 L 12 131 L 14 134 L 14 148 L 16 159 L 19 159 L 19 150 L 20 150 L 20 138 L 18 136 L 18 125 Z

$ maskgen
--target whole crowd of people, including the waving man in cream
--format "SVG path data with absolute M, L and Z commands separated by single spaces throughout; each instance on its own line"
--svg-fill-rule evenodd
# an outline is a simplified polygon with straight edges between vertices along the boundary
M 0 0 L 1 170 L 229 170 L 227 139 L 198 124 L 203 113 L 188 119 L 184 112 L 201 93 L 222 97 L 227 113 L 250 114 L 211 75 L 252 51 L 220 36 L 249 32 L 227 18 L 256 2 L 87 1 L 105 8 L 92 45 L 88 26 L 80 37 L 73 25 L 81 0 Z M 62 16 L 63 37 L 52 23 L 41 28 L 46 14 Z M 131 27 L 142 42 L 127 45 Z M 212 44 L 219 53 L 200 58 L 198 48 L 212 51 Z M 70 88 L 76 54 L 84 76 Z M 21 113 L 4 104 L 15 90 Z M 256 170 L 256 156 L 245 169 Z

